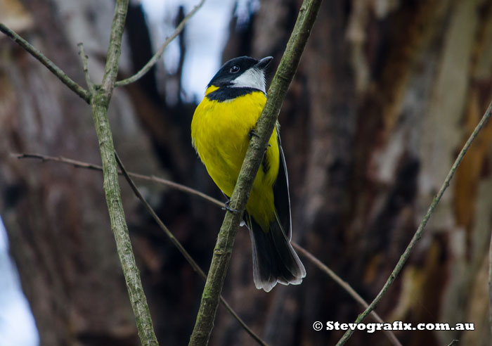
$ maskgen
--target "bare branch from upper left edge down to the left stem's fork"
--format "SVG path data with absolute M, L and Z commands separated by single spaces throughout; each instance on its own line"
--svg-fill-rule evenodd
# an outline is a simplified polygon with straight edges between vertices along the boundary
M 39 60 L 39 62 L 44 66 L 46 66 L 46 68 L 48 68 L 48 70 L 50 70 L 53 73 L 53 75 L 56 75 L 56 77 L 58 77 L 58 79 L 60 79 L 60 81 L 62 81 L 63 84 L 69 87 L 70 90 L 75 92 L 75 94 L 80 96 L 84 101 L 86 101 L 86 103 L 91 102 L 91 97 L 89 95 L 89 92 L 86 91 L 86 89 L 79 86 L 79 84 L 74 82 L 73 79 L 68 77 L 67 74 L 63 72 L 63 70 L 58 68 L 58 66 L 55 65 L 53 61 L 46 58 L 46 56 L 44 56 L 44 54 L 41 53 L 41 51 L 35 49 L 34 46 L 32 46 L 25 39 L 22 39 L 22 37 L 16 34 L 13 30 L 6 27 L 6 25 L 4 25 L 3 23 L 0 23 L 0 32 L 6 34 L 12 41 L 14 41 L 16 44 L 18 44 L 23 49 L 25 49 L 28 53 L 34 56 L 34 58 Z

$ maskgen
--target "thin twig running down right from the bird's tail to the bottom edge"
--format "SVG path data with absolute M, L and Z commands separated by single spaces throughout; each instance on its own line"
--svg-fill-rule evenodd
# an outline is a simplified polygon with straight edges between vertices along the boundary
M 311 252 L 309 252 L 308 250 L 302 248 L 301 245 L 297 245 L 297 243 L 294 243 L 294 242 L 291 242 L 291 243 L 292 243 L 292 246 L 297 251 L 299 251 L 304 257 L 306 257 L 307 259 L 309 259 L 309 261 L 312 264 L 314 264 L 316 267 L 318 267 L 319 269 L 321 269 L 321 271 L 323 271 L 325 274 L 327 274 L 328 276 L 330 276 L 330 278 L 332 278 L 333 281 L 335 281 L 336 283 L 338 283 L 339 286 L 341 286 L 347 293 L 349 293 L 349 295 L 351 297 L 354 298 L 354 300 L 356 300 L 356 302 L 358 302 L 364 308 L 367 308 L 369 306 L 368 303 L 365 302 L 364 298 L 361 297 L 356 292 L 356 290 L 354 290 L 354 288 L 352 288 L 349 285 L 349 283 L 347 283 L 347 281 L 344 281 L 337 274 L 335 274 L 335 271 L 332 271 L 332 269 L 326 267 L 325 264 L 323 264 L 323 262 L 321 262 L 318 258 L 314 257 L 311 254 Z M 375 319 L 376 322 L 378 322 L 378 323 L 384 323 L 384 321 L 382 320 L 382 318 L 380 317 L 380 315 L 378 315 L 375 311 L 370 312 L 370 315 L 373 316 L 373 319 Z M 392 345 L 402 346 L 401 345 L 401 342 L 399 342 L 399 340 L 396 338 L 396 335 L 394 335 L 394 333 L 392 331 L 386 331 L 386 330 L 384 330 L 383 332 L 384 332 L 384 334 L 386 334 L 386 336 L 389 339 L 389 342 L 391 342 Z

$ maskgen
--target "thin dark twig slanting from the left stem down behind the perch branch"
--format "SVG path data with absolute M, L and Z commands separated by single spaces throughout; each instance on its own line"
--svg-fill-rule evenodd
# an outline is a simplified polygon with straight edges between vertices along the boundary
M 124 178 L 127 179 L 127 182 L 129 184 L 129 186 L 131 187 L 131 190 L 134 191 L 135 196 L 141 201 L 141 203 L 143 203 L 143 205 L 145 206 L 145 209 L 152 215 L 155 222 L 157 222 L 157 224 L 159 225 L 160 229 L 162 229 L 162 231 L 164 231 L 164 233 L 166 233 L 166 236 L 169 237 L 169 240 L 171 241 L 171 243 L 173 243 L 173 245 L 176 246 L 176 248 L 178 248 L 179 252 L 181 252 L 181 255 L 183 255 L 186 258 L 186 261 L 188 261 L 188 263 L 193 268 L 193 270 L 195 270 L 198 273 L 198 275 L 200 276 L 200 278 L 202 278 L 203 281 L 206 281 L 207 275 L 205 274 L 205 272 L 202 271 L 202 269 L 200 268 L 198 263 L 195 262 L 195 260 L 193 259 L 193 257 L 190 256 L 188 251 L 186 251 L 186 249 L 183 248 L 183 245 L 181 245 L 181 243 L 179 243 L 178 239 L 176 239 L 176 237 L 173 235 L 173 233 L 171 233 L 171 231 L 169 231 L 169 229 L 164 224 L 164 222 L 162 222 L 160 217 L 157 216 L 157 214 L 153 210 L 153 207 L 151 207 L 150 204 L 148 204 L 147 200 L 145 200 L 145 198 L 142 196 L 140 191 L 138 191 L 138 188 L 136 187 L 134 181 L 130 177 L 130 173 L 127 172 L 127 169 L 124 168 L 123 162 L 119 158 L 119 156 L 116 152 L 115 152 L 115 158 L 116 158 L 116 162 L 119 165 L 119 168 L 122 171 Z M 224 203 L 221 203 L 221 205 L 224 205 Z M 238 314 L 235 313 L 235 311 L 231 308 L 230 305 L 228 305 L 228 302 L 226 302 L 226 300 L 224 300 L 224 297 L 222 297 L 222 296 L 221 296 L 221 302 L 224 305 L 224 307 L 226 307 L 228 312 L 230 312 L 233 315 L 233 317 L 236 320 L 238 320 L 238 322 L 240 323 L 242 328 L 245 328 L 245 331 L 248 334 L 250 334 L 251 337 L 259 343 L 259 345 L 263 345 L 263 346 L 267 345 L 266 342 L 264 342 L 264 340 L 261 340 L 261 338 L 257 334 L 255 334 L 254 331 L 252 331 L 250 329 L 250 327 L 248 327 L 244 321 L 242 321 L 240 316 L 238 316 Z

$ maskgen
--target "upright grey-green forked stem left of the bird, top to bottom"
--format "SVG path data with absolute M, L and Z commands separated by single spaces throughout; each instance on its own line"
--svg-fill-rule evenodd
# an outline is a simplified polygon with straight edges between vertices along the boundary
M 94 126 L 96 127 L 99 141 L 99 150 L 101 151 L 101 160 L 103 163 L 103 187 L 106 203 L 108 204 L 108 212 L 110 214 L 111 229 L 115 235 L 119 261 L 122 264 L 131 307 L 134 310 L 138 337 L 140 338 L 142 345 L 146 346 L 158 345 L 157 338 L 155 338 L 147 298 L 143 292 L 140 274 L 138 272 L 138 267 L 136 267 L 133 250 L 131 249 L 127 222 L 124 218 L 122 198 L 118 184 L 118 167 L 114 155 L 115 146 L 112 142 L 112 134 L 108 120 L 108 107 L 118 72 L 122 34 L 125 18 L 127 16 L 128 1 L 129 0 L 116 1 L 103 84 L 101 89 L 98 89 L 95 94 L 92 95 L 91 106 Z

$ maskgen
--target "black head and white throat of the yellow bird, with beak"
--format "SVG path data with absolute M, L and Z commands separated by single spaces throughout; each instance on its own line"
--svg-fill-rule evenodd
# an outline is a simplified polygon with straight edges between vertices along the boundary
M 214 75 L 207 85 L 211 87 L 247 87 L 258 89 L 266 93 L 265 90 L 265 70 L 273 58 L 267 56 L 261 60 L 240 56 L 228 60 Z

